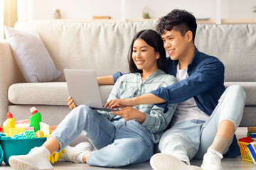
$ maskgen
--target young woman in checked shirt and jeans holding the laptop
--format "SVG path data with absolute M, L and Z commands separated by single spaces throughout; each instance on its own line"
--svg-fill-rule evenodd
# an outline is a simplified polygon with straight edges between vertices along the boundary
M 166 74 L 166 52 L 161 37 L 154 30 L 142 30 L 135 35 L 129 50 L 131 74 L 120 77 L 108 98 L 133 98 L 148 94 L 159 86 L 169 86 L 176 78 Z M 69 101 L 70 100 L 69 98 Z M 154 144 L 169 124 L 177 104 L 163 108 L 154 104 L 120 108 L 119 111 L 100 112 L 87 106 L 75 107 L 58 125 L 41 147 L 27 155 L 12 156 L 14 169 L 53 169 L 48 156 L 64 149 L 85 130 L 85 136 L 95 147 L 77 147 L 63 155 L 72 162 L 92 166 L 125 166 L 146 162 L 154 154 Z M 79 149 L 78 149 L 79 148 Z

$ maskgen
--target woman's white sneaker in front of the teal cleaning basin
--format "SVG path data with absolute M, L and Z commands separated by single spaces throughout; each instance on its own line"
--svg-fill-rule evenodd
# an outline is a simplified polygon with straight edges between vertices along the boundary
M 53 169 L 48 156 L 41 149 L 35 147 L 26 155 L 11 156 L 9 164 L 16 170 Z

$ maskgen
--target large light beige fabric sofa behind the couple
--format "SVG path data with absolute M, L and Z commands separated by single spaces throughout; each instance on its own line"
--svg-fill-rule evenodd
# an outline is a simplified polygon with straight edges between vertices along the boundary
M 87 23 L 82 21 L 18 21 L 16 28 L 33 28 L 41 36 L 56 68 L 95 69 L 97 76 L 128 72 L 127 52 L 133 36 L 155 29 L 157 21 Z M 247 101 L 240 126 L 256 120 L 256 24 L 198 25 L 196 47 L 225 64 L 225 86 L 240 84 Z M 0 40 L 0 123 L 7 111 L 16 120 L 31 116 L 35 106 L 44 123 L 58 125 L 70 112 L 68 89 L 62 74 L 52 82 L 27 83 L 7 40 Z M 112 86 L 100 86 L 102 102 Z

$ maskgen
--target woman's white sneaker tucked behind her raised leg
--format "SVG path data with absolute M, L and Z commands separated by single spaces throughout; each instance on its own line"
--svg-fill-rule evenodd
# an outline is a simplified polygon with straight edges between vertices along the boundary
M 81 153 L 92 152 L 92 145 L 89 142 L 82 142 L 75 147 L 65 147 L 65 152 L 62 154 L 62 159 L 65 161 L 79 163 L 78 155 Z

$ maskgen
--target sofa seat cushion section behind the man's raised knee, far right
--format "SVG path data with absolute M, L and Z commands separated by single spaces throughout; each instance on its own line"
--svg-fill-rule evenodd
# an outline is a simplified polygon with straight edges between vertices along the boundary
M 225 82 L 225 87 L 231 85 L 240 85 L 245 90 L 245 106 L 256 106 L 256 82 Z

